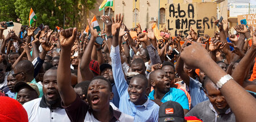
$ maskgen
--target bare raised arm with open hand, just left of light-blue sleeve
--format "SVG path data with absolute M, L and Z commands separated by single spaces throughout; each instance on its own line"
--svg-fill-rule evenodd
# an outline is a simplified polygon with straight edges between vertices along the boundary
M 93 45 L 95 43 L 95 40 L 98 36 L 97 30 L 93 30 L 92 25 L 90 24 L 90 21 L 88 20 L 88 26 L 90 28 L 90 41 L 88 45 L 85 48 L 84 54 L 82 55 L 81 62 L 80 62 L 80 71 L 82 76 L 82 81 L 91 80 L 94 77 L 94 74 L 89 68 L 90 59 L 92 56 L 92 49 Z

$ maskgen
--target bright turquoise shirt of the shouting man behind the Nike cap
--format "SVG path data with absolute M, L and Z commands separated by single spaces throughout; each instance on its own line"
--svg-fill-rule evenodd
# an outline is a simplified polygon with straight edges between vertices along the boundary
M 148 98 L 155 100 L 154 94 L 155 94 L 155 91 L 154 90 L 151 91 L 150 94 L 148 95 Z M 161 99 L 162 103 L 165 103 L 167 101 L 174 101 L 174 102 L 180 103 L 180 105 L 183 107 L 183 109 L 189 110 L 187 95 L 185 94 L 184 91 L 182 91 L 180 89 L 171 87 L 170 91 L 167 92 Z

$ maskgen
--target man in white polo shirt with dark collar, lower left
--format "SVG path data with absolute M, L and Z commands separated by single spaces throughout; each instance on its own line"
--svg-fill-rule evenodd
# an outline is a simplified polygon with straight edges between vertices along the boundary
M 57 87 L 57 68 L 51 68 L 44 74 L 42 98 L 31 100 L 23 105 L 29 121 L 70 121 L 61 107 Z

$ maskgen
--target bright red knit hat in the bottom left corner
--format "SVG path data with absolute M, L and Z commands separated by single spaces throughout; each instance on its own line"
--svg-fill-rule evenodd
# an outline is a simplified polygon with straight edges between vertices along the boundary
M 27 122 L 27 112 L 17 100 L 0 96 L 0 121 Z

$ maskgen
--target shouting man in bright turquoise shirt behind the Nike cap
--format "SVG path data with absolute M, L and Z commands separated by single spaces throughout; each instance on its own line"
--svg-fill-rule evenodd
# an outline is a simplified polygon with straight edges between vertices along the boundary
M 150 73 L 150 79 L 153 91 L 150 92 L 148 98 L 161 106 L 164 102 L 175 101 L 180 103 L 184 109 L 184 114 L 189 111 L 188 98 L 185 92 L 175 87 L 171 87 L 170 79 L 163 70 L 154 70 Z

